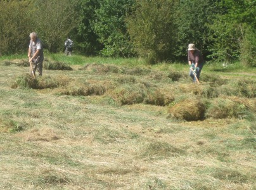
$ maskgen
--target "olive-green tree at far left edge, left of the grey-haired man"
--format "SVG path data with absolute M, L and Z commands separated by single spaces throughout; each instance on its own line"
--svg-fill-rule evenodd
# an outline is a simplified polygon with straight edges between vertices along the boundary
M 29 48 L 30 1 L 0 1 L 0 52 L 20 53 Z

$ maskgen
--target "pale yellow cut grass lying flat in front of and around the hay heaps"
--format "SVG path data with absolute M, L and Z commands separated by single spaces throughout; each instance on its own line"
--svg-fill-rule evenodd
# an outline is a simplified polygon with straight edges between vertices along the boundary
M 255 121 L 168 118 L 176 105 L 183 110 L 190 102 L 195 105 L 195 99 L 184 99 L 203 99 L 188 90 L 186 82 L 170 82 L 165 77 L 150 80 L 148 70 L 106 74 L 75 66 L 72 71 L 43 71 L 40 80 L 47 79 L 45 86 L 63 81 L 54 88 L 12 89 L 13 82 L 29 68 L 10 65 L 0 69 L 0 189 L 256 187 L 255 134 L 251 130 Z M 80 86 L 104 87 L 105 92 L 61 94 Z M 180 89 L 184 86 L 185 91 Z M 144 102 L 121 106 L 117 100 L 124 96 L 113 94 L 121 87 L 131 91 L 125 91 L 127 97 L 135 91 L 154 99 L 157 93 L 151 97 L 147 93 L 156 90 L 172 101 L 165 106 Z M 203 104 L 207 107 L 217 98 L 223 97 L 206 99 Z M 226 98 L 255 111 L 255 98 Z

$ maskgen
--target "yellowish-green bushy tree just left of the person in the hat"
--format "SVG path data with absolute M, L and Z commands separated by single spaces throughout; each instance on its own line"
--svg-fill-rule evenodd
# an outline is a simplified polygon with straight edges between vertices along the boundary
M 176 1 L 137 0 L 134 12 L 127 18 L 131 41 L 139 56 L 148 63 L 174 58 Z

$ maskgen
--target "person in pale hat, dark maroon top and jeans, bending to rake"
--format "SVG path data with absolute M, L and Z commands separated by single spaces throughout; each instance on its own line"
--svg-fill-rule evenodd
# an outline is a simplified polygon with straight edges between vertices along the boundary
M 196 49 L 195 44 L 188 44 L 189 76 L 193 79 L 193 82 L 196 82 L 196 77 L 199 81 L 204 63 L 202 52 Z

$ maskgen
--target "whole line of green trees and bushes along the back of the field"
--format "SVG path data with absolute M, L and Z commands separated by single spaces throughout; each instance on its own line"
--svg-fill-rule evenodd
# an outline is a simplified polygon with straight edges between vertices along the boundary
M 0 0 L 0 53 L 27 51 L 30 32 L 84 55 L 184 61 L 189 43 L 207 60 L 256 66 L 256 0 Z

